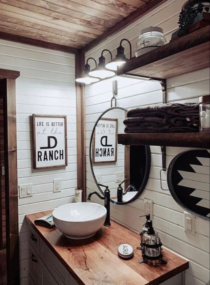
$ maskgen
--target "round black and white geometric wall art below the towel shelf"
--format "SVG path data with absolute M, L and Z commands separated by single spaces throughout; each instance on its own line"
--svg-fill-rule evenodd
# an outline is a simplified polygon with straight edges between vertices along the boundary
M 169 165 L 168 186 L 175 201 L 189 213 L 209 220 L 209 150 L 189 150 Z

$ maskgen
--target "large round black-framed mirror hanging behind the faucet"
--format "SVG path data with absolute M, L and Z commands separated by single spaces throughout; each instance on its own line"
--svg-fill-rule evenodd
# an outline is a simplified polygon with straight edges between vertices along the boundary
M 99 184 L 109 186 L 111 202 L 117 205 L 131 203 L 142 194 L 148 182 L 151 167 L 149 146 L 122 146 L 117 143 L 117 133 L 124 132 L 123 121 L 127 111 L 122 107 L 112 107 L 105 110 L 93 127 L 89 145 L 90 167 L 95 184 L 101 194 L 104 194 L 104 192 L 103 187 Z M 99 144 L 101 148 L 98 147 Z M 124 151 L 122 151 L 123 148 Z M 121 152 L 118 152 L 119 149 L 121 149 Z M 121 161 L 124 157 L 123 164 L 118 165 L 119 157 Z M 107 178 L 105 178 L 105 181 L 101 181 L 101 178 L 98 178 L 100 181 L 97 180 L 96 176 L 99 174 L 96 174 L 94 168 L 102 172 L 104 166 L 106 166 L 105 172 L 108 170 L 107 173 L 112 173 L 110 175 L 112 180 L 113 176 L 116 177 L 114 182 L 109 183 L 106 180 Z M 114 170 L 118 171 L 122 167 L 124 167 L 124 172 L 115 171 L 115 174 L 113 174 Z M 117 180 L 118 174 L 119 180 Z

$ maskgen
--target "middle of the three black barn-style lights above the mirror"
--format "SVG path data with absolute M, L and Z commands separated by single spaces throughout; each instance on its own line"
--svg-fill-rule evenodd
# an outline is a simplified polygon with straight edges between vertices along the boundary
M 101 53 L 101 56 L 99 57 L 98 66 L 89 72 L 89 76 L 97 77 L 97 78 L 101 78 L 101 79 L 105 79 L 105 78 L 115 76 L 115 72 L 108 70 L 106 68 L 106 64 L 105 64 L 106 58 L 103 56 L 104 52 L 109 52 L 109 54 L 111 55 L 111 60 L 113 59 L 112 54 L 109 50 L 107 50 L 107 49 L 103 50 Z

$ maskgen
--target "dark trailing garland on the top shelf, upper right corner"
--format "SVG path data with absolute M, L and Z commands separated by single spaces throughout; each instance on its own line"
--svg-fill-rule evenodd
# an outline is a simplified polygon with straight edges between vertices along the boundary
M 188 34 L 188 30 L 193 25 L 195 18 L 202 12 L 209 13 L 209 2 L 201 0 L 190 0 L 185 3 L 179 15 L 178 36 Z

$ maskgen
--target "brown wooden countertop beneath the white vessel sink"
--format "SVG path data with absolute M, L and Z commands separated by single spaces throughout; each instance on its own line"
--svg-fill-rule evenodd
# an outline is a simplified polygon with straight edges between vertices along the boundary
M 163 255 L 167 265 L 139 264 L 139 235 L 114 221 L 94 237 L 79 241 L 65 238 L 56 228 L 34 225 L 35 219 L 51 212 L 27 215 L 26 219 L 80 285 L 158 285 L 189 268 L 189 262 L 166 249 Z M 121 243 L 133 246 L 131 260 L 118 257 L 117 247 Z

